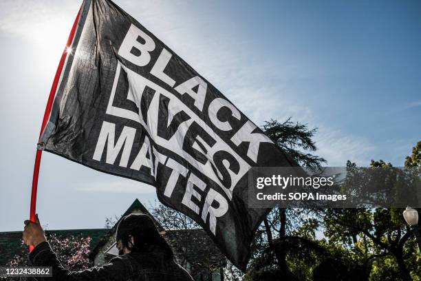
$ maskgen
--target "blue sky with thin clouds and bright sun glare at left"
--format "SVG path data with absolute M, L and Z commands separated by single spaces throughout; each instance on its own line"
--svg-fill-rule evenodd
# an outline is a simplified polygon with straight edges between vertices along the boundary
M 35 146 L 81 1 L 0 2 L 0 231 L 29 215 Z M 328 165 L 403 165 L 421 140 L 420 1 L 116 3 L 252 121 L 319 127 Z M 153 187 L 44 153 L 38 212 L 49 229 L 103 227 Z

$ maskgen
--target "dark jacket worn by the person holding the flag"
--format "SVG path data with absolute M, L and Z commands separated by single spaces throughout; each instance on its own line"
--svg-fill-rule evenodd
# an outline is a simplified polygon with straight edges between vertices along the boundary
M 52 267 L 52 278 L 45 280 L 133 280 L 133 281 L 193 281 L 191 275 L 164 251 L 155 248 L 148 253 L 128 253 L 118 256 L 102 267 L 69 271 L 58 261 L 48 242 L 42 242 L 30 253 L 35 267 Z

